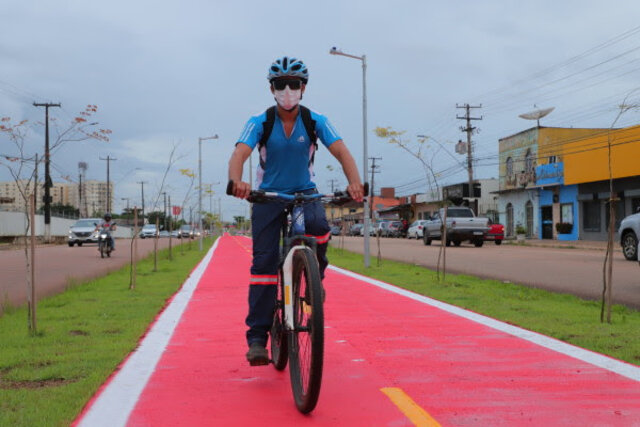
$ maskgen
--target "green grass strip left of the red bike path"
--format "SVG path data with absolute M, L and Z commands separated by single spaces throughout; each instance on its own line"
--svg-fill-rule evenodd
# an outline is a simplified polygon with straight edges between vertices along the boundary
M 191 246 L 141 261 L 135 290 L 127 266 L 40 301 L 35 335 L 26 308 L 0 317 L 0 426 L 69 425 L 202 258 Z

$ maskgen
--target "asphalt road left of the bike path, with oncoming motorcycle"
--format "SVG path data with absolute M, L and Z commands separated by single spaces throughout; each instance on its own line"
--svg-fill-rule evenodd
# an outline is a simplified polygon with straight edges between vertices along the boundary
M 173 239 L 174 245 L 179 243 Z M 197 245 L 197 241 L 193 241 Z M 138 257 L 153 251 L 153 239 L 138 239 Z M 159 239 L 158 248 L 169 247 L 169 239 Z M 118 270 L 130 261 L 131 239 L 117 239 L 111 258 L 100 258 L 97 245 L 68 245 L 36 248 L 37 299 L 54 295 L 72 283 L 78 283 Z M 19 306 L 27 301 L 24 249 L 0 251 L 0 314 L 5 304 Z

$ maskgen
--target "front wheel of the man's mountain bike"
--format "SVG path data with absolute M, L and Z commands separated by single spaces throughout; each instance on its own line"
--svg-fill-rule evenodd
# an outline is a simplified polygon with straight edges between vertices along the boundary
M 313 411 L 318 403 L 324 357 L 322 282 L 313 251 L 293 255 L 293 319 L 289 334 L 289 372 L 298 410 Z

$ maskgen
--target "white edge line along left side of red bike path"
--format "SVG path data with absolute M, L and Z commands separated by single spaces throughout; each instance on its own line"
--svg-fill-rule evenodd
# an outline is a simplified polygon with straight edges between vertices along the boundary
M 78 426 L 115 427 L 126 425 L 131 411 L 133 411 L 160 360 L 160 356 L 162 356 L 167 344 L 169 344 L 169 340 L 193 295 L 193 291 L 209 265 L 219 241 L 219 238 L 216 239 L 216 242 L 209 249 L 209 252 L 207 252 L 198 267 L 187 278 L 171 303 L 158 317 L 158 320 L 142 340 L 138 349 L 131 354 L 122 369 L 93 402 L 93 405 L 80 420 Z

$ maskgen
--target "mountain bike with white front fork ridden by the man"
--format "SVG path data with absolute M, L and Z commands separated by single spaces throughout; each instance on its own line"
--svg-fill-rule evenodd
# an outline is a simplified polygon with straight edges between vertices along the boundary
M 227 185 L 232 195 L 233 182 Z M 365 184 L 365 194 L 368 185 Z M 336 205 L 351 201 L 347 192 L 333 194 L 284 194 L 251 191 L 251 203 L 282 202 L 278 292 L 270 331 L 273 366 L 282 371 L 289 362 L 291 389 L 296 407 L 307 414 L 320 396 L 324 361 L 324 289 L 316 258 L 316 240 L 305 236 L 303 206 L 317 200 Z

